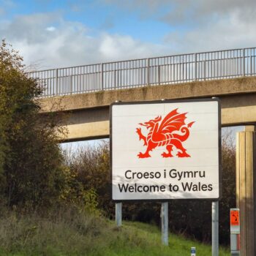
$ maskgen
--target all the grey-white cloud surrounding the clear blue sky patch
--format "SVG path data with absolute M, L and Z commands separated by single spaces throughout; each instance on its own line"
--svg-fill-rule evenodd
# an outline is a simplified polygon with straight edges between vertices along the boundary
M 97 34 L 83 23 L 64 20 L 61 12 L 51 12 L 0 20 L 0 34 L 20 50 L 26 64 L 39 69 L 256 46 L 255 0 L 173 0 L 171 6 L 169 0 L 130 0 L 123 5 L 98 1 L 119 3 L 130 12 L 135 4 L 143 18 L 155 10 L 154 18 L 179 26 L 172 26 L 176 31 L 155 44 L 131 35 Z M 160 12 L 162 7 L 165 13 Z M 181 23 L 182 31 L 177 29 Z

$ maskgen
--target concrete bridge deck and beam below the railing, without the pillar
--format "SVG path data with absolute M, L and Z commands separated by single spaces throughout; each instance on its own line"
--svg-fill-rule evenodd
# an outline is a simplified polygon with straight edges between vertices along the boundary
M 109 105 L 157 99 L 192 99 L 219 97 L 222 106 L 222 126 L 256 123 L 256 78 L 195 81 L 165 86 L 145 86 L 135 89 L 97 91 L 90 94 L 41 99 L 44 112 L 70 111 L 67 118 L 66 141 L 108 138 Z M 57 107 L 54 107 L 57 106 Z

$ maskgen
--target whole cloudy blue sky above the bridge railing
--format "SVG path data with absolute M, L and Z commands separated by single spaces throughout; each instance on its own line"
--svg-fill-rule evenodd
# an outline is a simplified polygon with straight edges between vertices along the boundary
M 256 46 L 255 0 L 0 0 L 29 69 Z

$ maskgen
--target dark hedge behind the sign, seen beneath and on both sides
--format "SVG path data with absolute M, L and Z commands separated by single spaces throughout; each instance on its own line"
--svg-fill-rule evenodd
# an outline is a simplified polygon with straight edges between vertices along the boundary
M 222 138 L 222 200 L 219 202 L 219 241 L 230 244 L 230 208 L 236 207 L 235 147 L 230 133 Z M 114 218 L 111 201 L 109 144 L 102 141 L 93 148 L 78 148 L 65 154 L 66 164 L 86 190 L 95 189 L 98 208 Z M 160 225 L 160 203 L 123 203 L 123 219 Z M 173 200 L 169 203 L 169 227 L 173 233 L 198 241 L 211 242 L 211 201 Z M 199 228 L 200 227 L 200 228 Z

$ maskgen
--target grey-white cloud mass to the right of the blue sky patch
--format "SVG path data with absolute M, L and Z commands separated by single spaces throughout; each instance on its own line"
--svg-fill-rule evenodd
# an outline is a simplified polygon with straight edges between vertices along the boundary
M 100 0 L 139 12 L 140 18 L 159 19 L 172 31 L 163 39 L 170 53 L 256 46 L 255 0 Z

